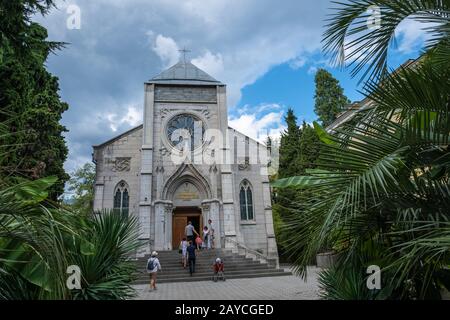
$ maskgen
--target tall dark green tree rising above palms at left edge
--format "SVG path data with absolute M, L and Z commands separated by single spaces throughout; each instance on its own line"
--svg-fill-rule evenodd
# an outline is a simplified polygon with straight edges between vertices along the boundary
M 0 4 L 0 122 L 11 133 L 0 137 L 0 144 L 15 146 L 0 165 L 8 169 L 7 175 L 58 177 L 50 190 L 50 198 L 56 200 L 68 179 L 63 168 L 66 129 L 60 124 L 68 106 L 60 100 L 58 79 L 45 68 L 58 44 L 47 42 L 46 29 L 30 21 L 33 14 L 46 13 L 52 5 L 52 1 Z

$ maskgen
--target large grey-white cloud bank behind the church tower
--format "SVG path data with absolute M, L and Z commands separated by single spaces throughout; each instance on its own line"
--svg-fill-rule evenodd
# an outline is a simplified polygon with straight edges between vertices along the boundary
M 227 84 L 229 110 L 236 114 L 242 89 L 271 68 L 311 63 L 309 57 L 321 48 L 330 2 L 77 0 L 81 30 L 66 28 L 66 4 L 58 0 L 60 10 L 35 20 L 48 28 L 50 40 L 70 43 L 50 56 L 48 66 L 70 106 L 63 123 L 69 129 L 68 163 L 76 163 L 90 159 L 92 144 L 136 123 L 129 107 L 141 110 L 142 82 L 161 72 L 161 61 L 164 68 L 176 63 L 180 47 L 192 50 L 195 64 Z M 267 124 L 272 133 L 281 126 L 279 111 L 264 111 L 272 113 L 274 125 Z M 268 118 L 255 107 L 239 114 L 255 112 L 253 123 L 261 127 Z

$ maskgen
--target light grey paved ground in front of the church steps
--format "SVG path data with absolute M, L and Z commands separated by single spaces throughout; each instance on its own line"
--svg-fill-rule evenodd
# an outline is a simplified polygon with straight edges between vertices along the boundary
M 318 299 L 317 273 L 308 268 L 305 283 L 296 276 L 163 283 L 158 290 L 136 285 L 138 300 L 314 300 Z

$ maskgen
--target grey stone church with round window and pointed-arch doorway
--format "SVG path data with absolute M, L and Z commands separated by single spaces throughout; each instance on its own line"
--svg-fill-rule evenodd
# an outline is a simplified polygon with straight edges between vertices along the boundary
M 138 218 L 139 255 L 212 220 L 217 248 L 278 260 L 269 150 L 228 127 L 226 85 L 180 61 L 144 84 L 143 124 L 93 147 L 94 209 Z

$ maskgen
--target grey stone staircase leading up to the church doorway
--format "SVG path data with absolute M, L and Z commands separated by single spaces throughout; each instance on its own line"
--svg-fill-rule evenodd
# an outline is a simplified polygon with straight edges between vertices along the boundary
M 197 255 L 195 273 L 189 275 L 189 266 L 183 269 L 181 254 L 177 250 L 161 251 L 158 254 L 162 272 L 158 272 L 158 283 L 207 281 L 212 279 L 212 265 L 214 260 L 220 257 L 225 264 L 225 277 L 227 279 L 277 277 L 291 275 L 282 269 L 272 268 L 267 263 L 261 263 L 228 250 L 214 249 L 204 250 Z M 138 278 L 136 284 L 148 284 L 149 276 L 146 270 L 149 256 L 137 261 Z

